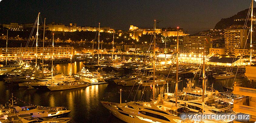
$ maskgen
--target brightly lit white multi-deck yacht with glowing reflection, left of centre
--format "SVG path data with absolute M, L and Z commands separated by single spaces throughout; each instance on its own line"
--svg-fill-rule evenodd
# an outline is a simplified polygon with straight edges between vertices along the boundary
M 76 74 L 72 74 L 75 78 L 79 80 L 83 80 L 84 82 L 88 84 L 95 84 L 98 83 L 99 81 L 97 80 L 97 77 L 89 72 L 88 69 L 82 68 L 81 72 L 78 72 Z

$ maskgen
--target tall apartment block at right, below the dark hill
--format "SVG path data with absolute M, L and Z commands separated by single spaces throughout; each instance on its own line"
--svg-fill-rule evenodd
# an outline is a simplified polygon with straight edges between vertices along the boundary
M 245 47 L 247 41 L 247 30 L 227 29 L 225 30 L 225 53 L 235 55 L 237 49 L 248 49 Z

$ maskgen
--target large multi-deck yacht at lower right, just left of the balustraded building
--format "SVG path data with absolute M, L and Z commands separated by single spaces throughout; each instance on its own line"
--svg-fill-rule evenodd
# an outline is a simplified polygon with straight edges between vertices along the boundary
M 188 108 L 189 111 L 194 113 L 204 113 L 206 115 L 213 114 L 235 114 L 230 110 L 231 106 L 229 103 L 221 103 L 216 101 L 215 98 L 218 93 L 213 91 L 205 91 L 204 93 L 204 111 L 202 111 L 202 97 L 203 90 L 200 87 L 192 88 L 194 85 L 191 80 L 188 79 L 187 88 L 183 89 L 184 94 L 178 95 L 177 104 Z M 159 102 L 163 106 L 174 106 L 176 104 L 175 97 L 164 98 L 164 103 Z M 231 119 L 227 119 L 223 122 L 230 122 Z

